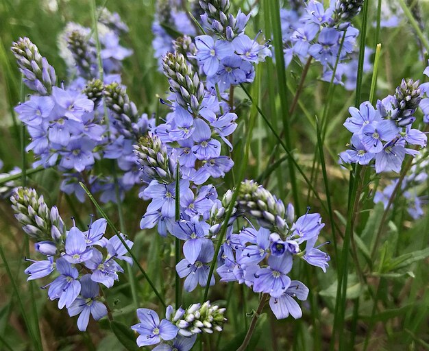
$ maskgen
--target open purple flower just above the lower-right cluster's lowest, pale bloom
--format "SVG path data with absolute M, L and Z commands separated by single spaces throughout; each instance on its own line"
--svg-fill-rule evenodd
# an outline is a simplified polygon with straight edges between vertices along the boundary
M 286 276 L 292 268 L 292 256 L 289 253 L 283 256 L 269 256 L 269 267 L 260 268 L 255 273 L 254 291 L 269 293 L 278 298 L 291 284 L 291 278 Z

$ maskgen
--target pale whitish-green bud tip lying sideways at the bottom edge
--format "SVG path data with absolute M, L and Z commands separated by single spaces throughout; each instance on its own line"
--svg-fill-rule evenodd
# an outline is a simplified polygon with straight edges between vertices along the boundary
M 179 328 L 179 334 L 184 337 L 201 332 L 222 331 L 223 323 L 226 318 L 223 316 L 225 308 L 219 308 L 217 305 L 210 304 L 210 301 L 204 304 L 192 304 L 186 310 L 179 308 L 175 313 L 171 313 L 170 322 Z

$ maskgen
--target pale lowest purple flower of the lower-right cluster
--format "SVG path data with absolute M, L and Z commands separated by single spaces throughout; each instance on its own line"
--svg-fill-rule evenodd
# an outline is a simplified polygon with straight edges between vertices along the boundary
M 298 280 L 292 280 L 289 288 L 278 298 L 271 297 L 269 306 L 277 319 L 287 318 L 289 314 L 295 319 L 302 317 L 302 311 L 295 298 L 301 301 L 307 300 L 308 287 Z

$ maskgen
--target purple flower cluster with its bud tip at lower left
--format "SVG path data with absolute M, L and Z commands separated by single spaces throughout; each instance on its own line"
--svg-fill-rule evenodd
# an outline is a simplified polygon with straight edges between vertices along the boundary
M 99 284 L 110 288 L 114 280 L 119 279 L 118 273 L 122 273 L 123 268 L 115 260 L 132 263 L 131 258 L 125 256 L 132 241 L 123 234 L 121 239 L 104 237 L 107 221 L 103 218 L 91 220 L 84 232 L 74 223 L 67 230 L 56 206 L 49 208 L 34 189 L 17 188 L 10 200 L 16 219 L 35 241 L 34 249 L 45 256 L 40 261 L 25 258 L 32 262 L 25 269 L 27 280 L 55 276 L 42 289 L 49 287 L 49 299 L 58 300 L 58 308 L 65 306 L 71 317 L 79 315 L 77 327 L 86 330 L 89 315 L 95 320 L 107 315 Z

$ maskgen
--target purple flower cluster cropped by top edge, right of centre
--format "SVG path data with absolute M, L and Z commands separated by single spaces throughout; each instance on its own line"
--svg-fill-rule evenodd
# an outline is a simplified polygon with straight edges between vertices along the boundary
M 292 9 L 282 9 L 284 61 L 289 66 L 294 57 L 302 63 L 310 58 L 323 66 L 322 80 L 330 82 L 336 65 L 334 84 L 352 90 L 356 86 L 356 38 L 358 29 L 350 20 L 360 12 L 363 1 L 335 0 L 328 8 L 317 0 L 304 1 Z M 371 69 L 365 50 L 364 71 Z M 336 64 L 338 58 L 338 64 Z

